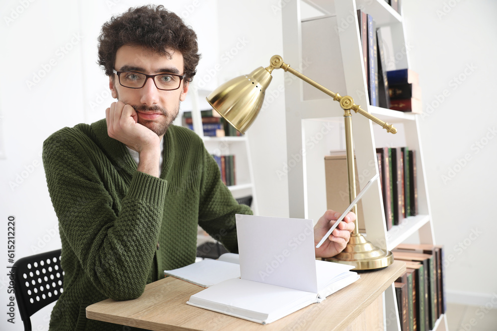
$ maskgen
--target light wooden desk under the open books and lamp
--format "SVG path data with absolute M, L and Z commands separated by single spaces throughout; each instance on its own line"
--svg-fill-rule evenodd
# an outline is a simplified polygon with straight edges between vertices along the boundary
M 203 288 L 167 277 L 145 287 L 135 300 L 107 299 L 86 307 L 86 317 L 149 330 L 383 330 L 381 295 L 406 270 L 400 261 L 268 325 L 192 307 L 186 301 Z

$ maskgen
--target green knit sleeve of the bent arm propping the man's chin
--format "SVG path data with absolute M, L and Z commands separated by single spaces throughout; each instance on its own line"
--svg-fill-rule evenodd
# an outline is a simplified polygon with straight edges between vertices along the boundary
M 74 132 L 56 132 L 44 142 L 61 238 L 99 291 L 115 300 L 134 299 L 145 289 L 154 258 L 167 183 L 135 172 L 126 196 L 114 199 L 117 193 L 104 177 L 116 172 L 97 171 L 91 153 Z

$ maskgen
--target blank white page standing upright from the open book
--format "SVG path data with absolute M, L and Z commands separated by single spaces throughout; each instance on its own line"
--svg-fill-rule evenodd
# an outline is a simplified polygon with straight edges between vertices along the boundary
M 312 220 L 236 218 L 242 279 L 318 293 Z

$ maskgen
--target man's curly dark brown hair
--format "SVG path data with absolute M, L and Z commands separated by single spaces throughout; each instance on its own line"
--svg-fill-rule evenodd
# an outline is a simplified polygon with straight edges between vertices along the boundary
M 111 76 L 116 52 L 123 45 L 137 45 L 170 56 L 166 50 L 183 55 L 184 77 L 191 82 L 200 60 L 197 35 L 175 13 L 163 5 L 129 8 L 120 16 L 113 16 L 102 26 L 98 36 L 98 64 Z

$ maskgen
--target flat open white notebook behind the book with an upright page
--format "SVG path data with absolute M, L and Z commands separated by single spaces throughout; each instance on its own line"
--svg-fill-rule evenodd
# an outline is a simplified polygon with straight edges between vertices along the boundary
M 240 257 L 238 254 L 225 253 L 217 260 L 206 259 L 177 269 L 164 270 L 164 275 L 209 287 L 227 279 L 240 277 Z

